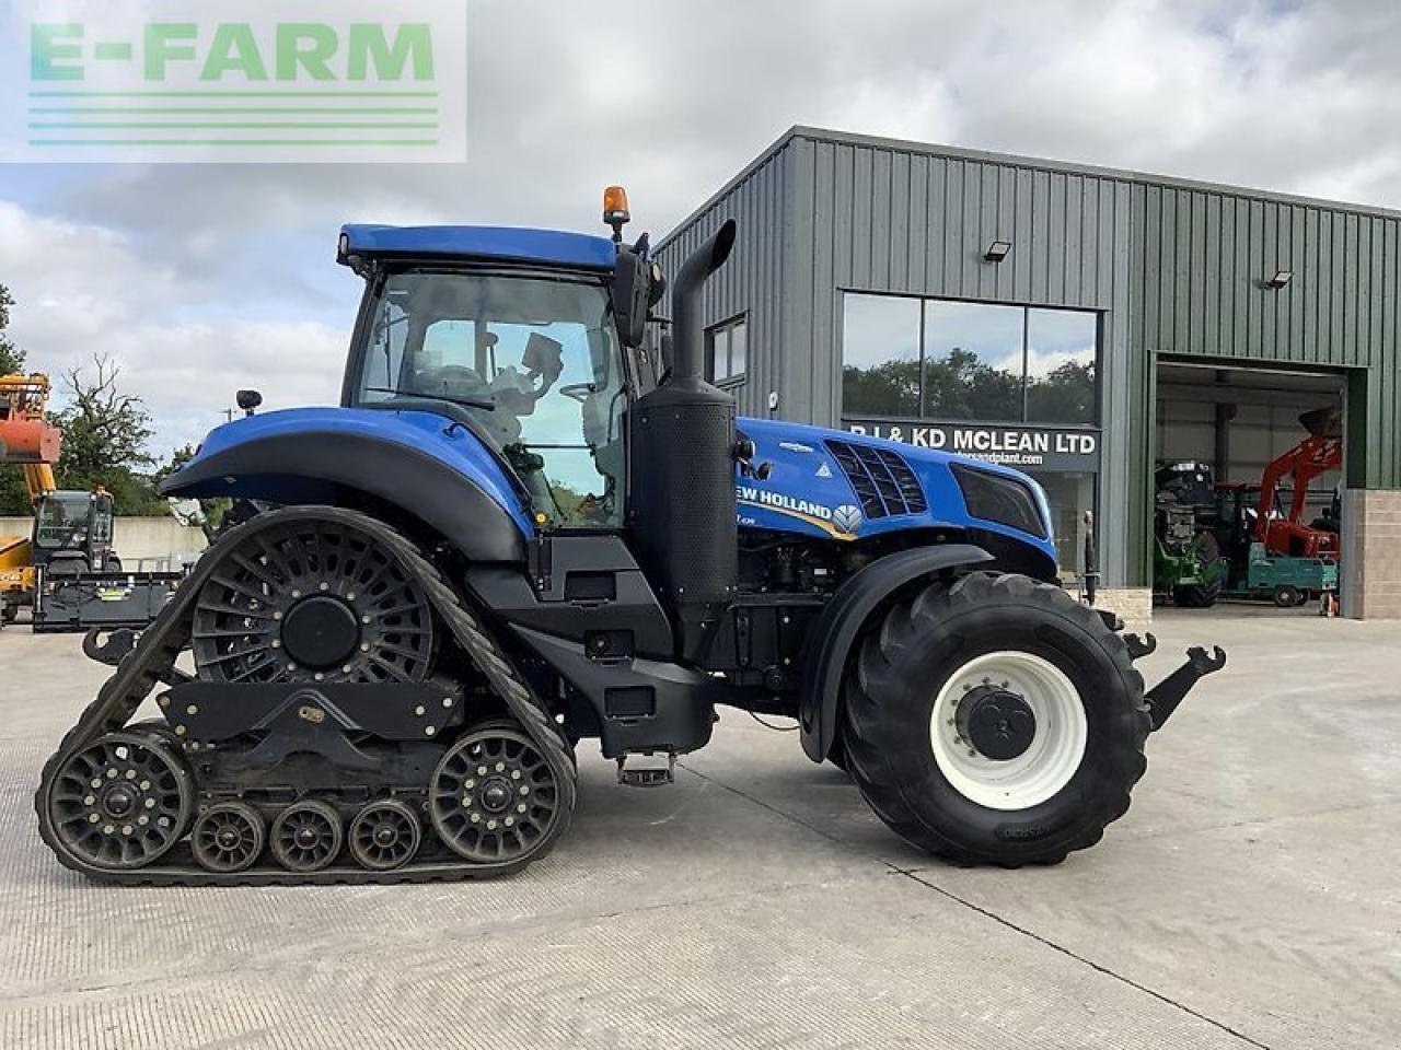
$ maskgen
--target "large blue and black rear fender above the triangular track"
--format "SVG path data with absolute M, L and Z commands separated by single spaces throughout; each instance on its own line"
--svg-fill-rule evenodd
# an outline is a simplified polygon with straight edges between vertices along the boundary
M 161 496 L 357 505 L 409 514 L 475 561 L 524 561 L 534 526 L 482 438 L 427 412 L 290 409 L 212 431 Z

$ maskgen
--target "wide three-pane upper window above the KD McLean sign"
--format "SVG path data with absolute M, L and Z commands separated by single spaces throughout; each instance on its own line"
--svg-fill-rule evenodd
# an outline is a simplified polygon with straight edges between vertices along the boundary
M 1097 423 L 1091 311 L 855 293 L 842 311 L 843 416 Z

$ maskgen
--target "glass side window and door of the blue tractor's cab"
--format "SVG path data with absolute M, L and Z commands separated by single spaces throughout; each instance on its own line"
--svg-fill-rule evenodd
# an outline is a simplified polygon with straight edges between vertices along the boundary
M 464 407 L 541 524 L 615 525 L 623 377 L 608 294 L 581 280 L 410 270 L 371 304 L 357 402 Z

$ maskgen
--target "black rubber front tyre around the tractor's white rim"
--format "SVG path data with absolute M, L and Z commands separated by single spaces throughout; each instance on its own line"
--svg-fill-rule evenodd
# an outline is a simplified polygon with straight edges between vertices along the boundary
M 1086 756 L 1052 798 L 991 809 L 939 771 L 929 742 L 934 697 L 968 659 L 1024 650 L 1061 668 L 1086 704 Z M 848 771 L 876 815 L 911 844 L 957 864 L 1055 864 L 1094 846 L 1129 808 L 1147 766 L 1143 678 L 1097 612 L 1024 575 L 974 573 L 930 584 L 891 608 L 846 683 Z

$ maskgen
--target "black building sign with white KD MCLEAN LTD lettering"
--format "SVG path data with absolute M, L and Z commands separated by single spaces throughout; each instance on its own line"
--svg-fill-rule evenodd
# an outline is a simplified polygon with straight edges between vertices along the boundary
M 1006 463 L 1030 470 L 1093 473 L 1100 469 L 1100 431 L 996 423 L 843 419 L 852 434 L 902 441 L 915 448 Z

